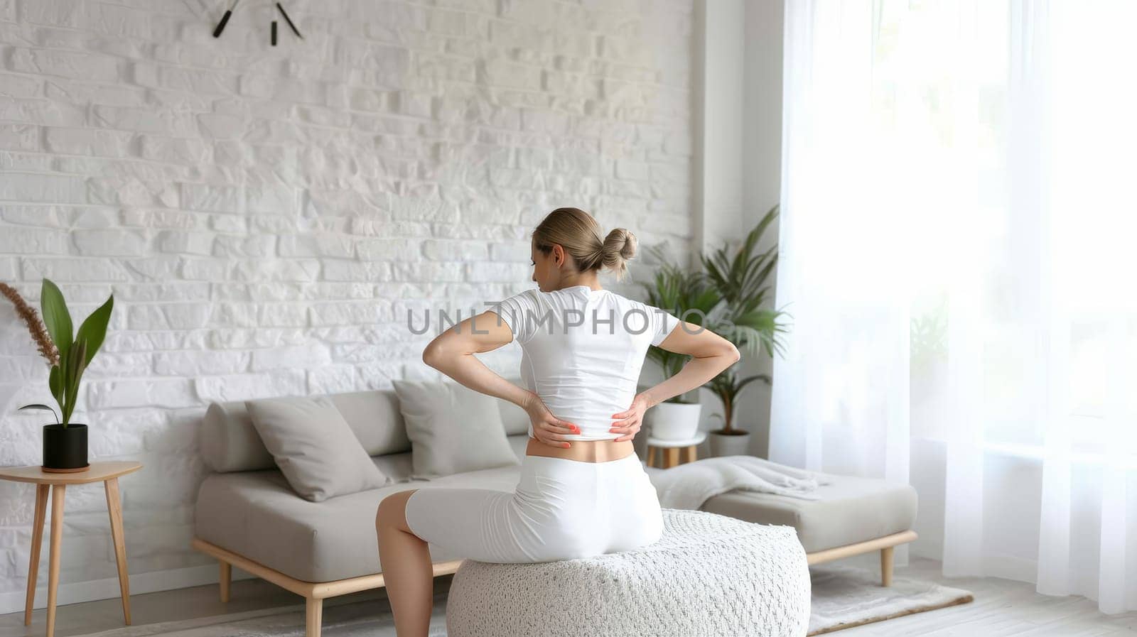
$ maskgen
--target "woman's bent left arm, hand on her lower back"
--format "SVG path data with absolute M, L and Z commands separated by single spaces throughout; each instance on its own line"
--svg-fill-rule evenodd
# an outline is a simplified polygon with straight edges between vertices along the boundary
M 423 350 L 423 362 L 475 392 L 512 402 L 529 413 L 538 441 L 557 447 L 568 447 L 565 434 L 579 434 L 580 428 L 555 418 L 540 396 L 518 387 L 493 372 L 478 360 L 475 353 L 489 352 L 513 341 L 513 332 L 492 311 L 446 329 Z

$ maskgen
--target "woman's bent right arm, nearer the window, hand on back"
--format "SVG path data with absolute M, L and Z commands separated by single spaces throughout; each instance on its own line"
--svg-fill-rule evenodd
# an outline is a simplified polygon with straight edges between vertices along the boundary
M 728 367 L 738 362 L 738 347 L 709 329 L 695 324 L 680 322 L 671 334 L 659 343 L 659 347 L 679 354 L 690 354 L 683 369 L 663 383 L 646 389 L 632 400 L 626 411 L 613 413 L 613 433 L 621 434 L 616 441 L 630 441 L 636 437 L 644 422 L 644 412 L 663 401 L 702 387 L 708 380 L 719 376 Z

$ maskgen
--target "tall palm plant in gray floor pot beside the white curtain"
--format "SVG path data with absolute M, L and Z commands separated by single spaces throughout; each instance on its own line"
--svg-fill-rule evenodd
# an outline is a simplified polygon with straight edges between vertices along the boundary
M 764 351 L 771 357 L 781 351 L 778 334 L 786 332 L 786 327 L 778 322 L 778 318 L 786 312 L 762 308 L 770 290 L 766 279 L 778 262 L 778 244 L 761 253 L 755 253 L 754 249 L 777 217 L 778 206 L 774 206 L 746 235 L 733 255 L 728 254 L 725 248 L 720 248 L 709 257 L 699 257 L 705 284 L 721 299 L 721 303 L 708 315 L 715 333 L 752 354 Z M 733 368 L 728 368 L 707 384 L 722 401 L 723 408 L 722 427 L 712 429 L 707 441 L 711 455 L 747 452 L 750 434 L 735 427 L 735 416 L 739 394 L 755 380 L 771 383 L 765 374 L 739 377 Z

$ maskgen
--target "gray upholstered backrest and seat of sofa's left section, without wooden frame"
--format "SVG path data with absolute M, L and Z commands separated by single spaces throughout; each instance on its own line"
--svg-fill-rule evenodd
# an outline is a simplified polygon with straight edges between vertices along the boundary
M 201 450 L 214 470 L 198 491 L 194 535 L 302 581 L 335 581 L 379 572 L 375 511 L 387 495 L 410 488 L 463 486 L 513 491 L 520 466 L 410 480 L 410 441 L 393 391 L 327 396 L 380 470 L 382 488 L 309 502 L 296 494 L 260 444 L 243 402 L 214 403 L 201 427 Z M 508 405 L 512 406 L 512 405 Z M 525 453 L 526 430 L 508 431 Z M 431 545 L 435 562 L 458 559 Z

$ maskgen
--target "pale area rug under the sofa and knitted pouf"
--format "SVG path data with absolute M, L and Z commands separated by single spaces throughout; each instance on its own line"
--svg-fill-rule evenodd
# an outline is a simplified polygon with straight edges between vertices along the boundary
M 822 635 L 902 615 L 965 604 L 971 593 L 931 581 L 893 578 L 880 586 L 880 573 L 847 567 L 810 569 L 813 597 L 810 635 Z M 446 595 L 434 593 L 430 637 L 446 637 Z M 304 635 L 304 603 L 243 613 L 182 621 L 127 626 L 81 637 L 299 637 Z M 385 600 L 337 603 L 324 601 L 324 637 L 396 637 Z

